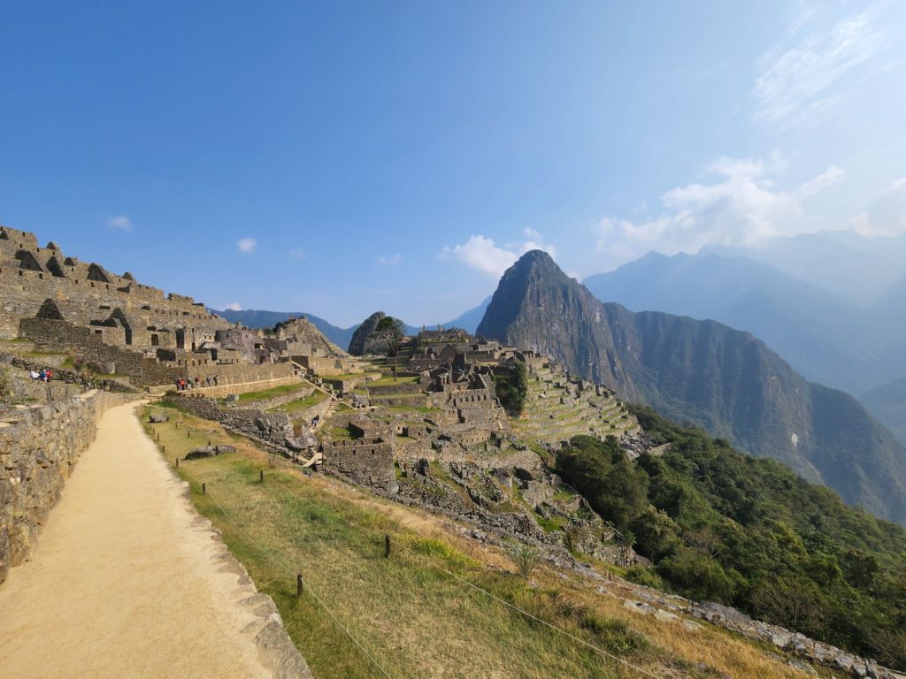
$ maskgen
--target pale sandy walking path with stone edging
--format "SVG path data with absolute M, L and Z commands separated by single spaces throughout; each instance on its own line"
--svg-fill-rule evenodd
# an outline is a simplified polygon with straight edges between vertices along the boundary
M 0 586 L 0 676 L 311 679 L 135 408 L 101 417 L 37 549 Z

